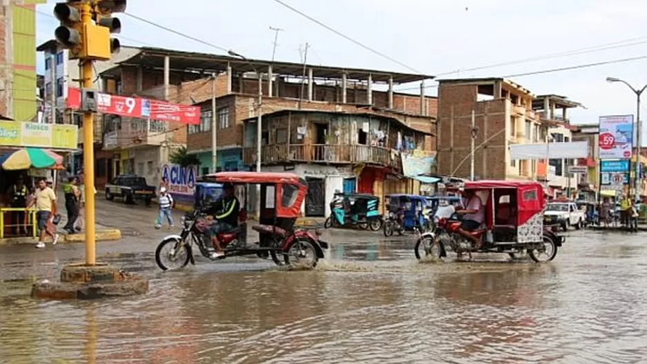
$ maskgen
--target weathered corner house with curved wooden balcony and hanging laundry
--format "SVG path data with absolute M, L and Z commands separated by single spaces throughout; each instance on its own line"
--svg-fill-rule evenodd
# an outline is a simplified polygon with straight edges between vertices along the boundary
M 256 128 L 257 119 L 245 121 L 246 166 L 257 160 Z M 261 128 L 261 168 L 305 177 L 305 216 L 328 216 L 335 192 L 374 194 L 381 201 L 387 194 L 418 194 L 419 182 L 403 176 L 402 155 L 434 147 L 431 132 L 390 113 L 281 110 L 264 114 Z

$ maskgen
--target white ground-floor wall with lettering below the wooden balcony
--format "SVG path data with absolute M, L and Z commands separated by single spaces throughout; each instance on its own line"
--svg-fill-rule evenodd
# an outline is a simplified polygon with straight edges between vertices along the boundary
M 330 165 L 317 164 L 297 164 L 295 169 L 286 171 L 282 165 L 273 165 L 263 167 L 263 172 L 288 172 L 297 174 L 303 178 L 321 178 L 325 180 L 324 205 L 326 206 L 326 216 L 330 215 L 330 201 L 335 196 L 335 192 L 344 190 L 344 178 L 353 177 L 350 168 L 336 168 Z M 305 214 L 305 204 L 301 206 L 301 213 Z

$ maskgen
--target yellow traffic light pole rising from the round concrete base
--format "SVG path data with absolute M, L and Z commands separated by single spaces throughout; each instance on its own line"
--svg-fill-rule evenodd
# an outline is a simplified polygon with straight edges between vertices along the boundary
M 92 24 L 90 3 L 81 5 L 81 23 Z M 90 41 L 90 39 L 88 39 Z M 92 59 L 81 60 L 81 88 L 92 88 Z M 94 114 L 83 112 L 83 187 L 86 189 L 86 265 L 94 265 L 96 241 L 94 226 Z

